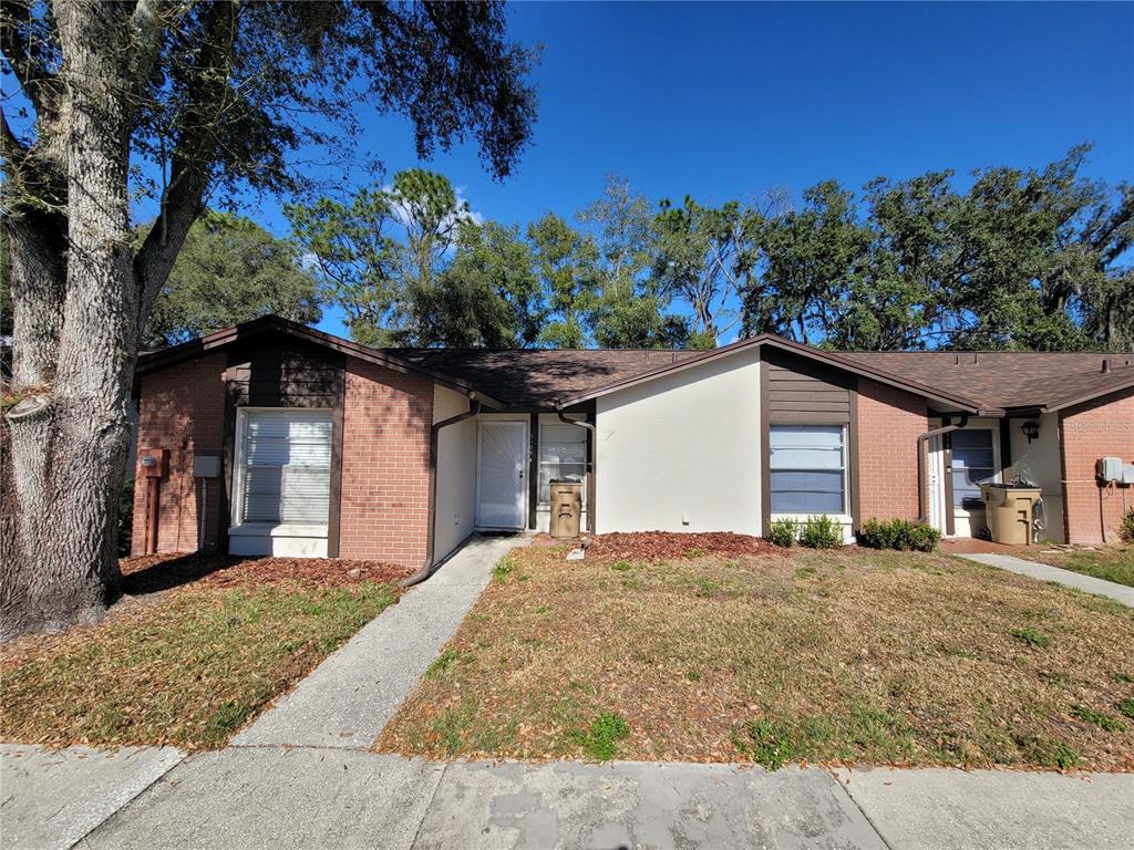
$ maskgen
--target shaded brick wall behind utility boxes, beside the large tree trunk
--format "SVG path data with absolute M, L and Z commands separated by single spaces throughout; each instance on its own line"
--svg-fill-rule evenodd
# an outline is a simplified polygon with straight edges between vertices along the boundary
M 146 449 L 169 450 L 169 474 L 161 479 L 158 551 L 197 549 L 201 487 L 193 479 L 193 456 L 220 454 L 225 442 L 225 355 L 212 354 L 161 372 L 143 375 L 138 402 L 138 457 Z M 134 470 L 132 554 L 145 545 L 146 478 L 141 462 Z M 221 478 L 209 487 L 205 543 L 220 535 Z

